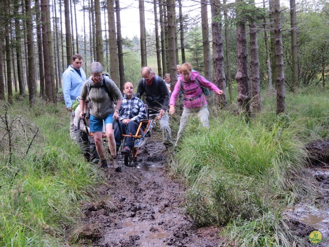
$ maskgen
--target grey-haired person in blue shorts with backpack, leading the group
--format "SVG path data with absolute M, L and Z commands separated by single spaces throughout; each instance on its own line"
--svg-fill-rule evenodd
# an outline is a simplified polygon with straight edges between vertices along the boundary
M 102 140 L 104 120 L 109 152 L 111 152 L 112 156 L 112 165 L 115 168 L 115 171 L 121 172 L 121 167 L 117 161 L 117 149 L 114 130 L 112 129 L 112 120 L 113 117 L 119 118 L 118 112 L 122 101 L 122 94 L 113 80 L 102 75 L 103 66 L 100 62 L 93 62 L 90 64 L 90 74 L 92 76 L 84 82 L 80 94 L 80 117 L 84 119 L 84 105 L 88 95 L 90 112 L 89 127 L 90 132 L 95 139 L 96 150 L 101 159 L 101 167 L 107 168 L 106 155 Z M 116 105 L 114 99 L 110 97 L 109 93 L 116 98 Z

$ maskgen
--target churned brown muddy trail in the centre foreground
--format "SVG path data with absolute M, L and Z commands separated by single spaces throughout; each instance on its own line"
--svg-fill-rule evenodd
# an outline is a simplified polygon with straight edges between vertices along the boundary
M 86 246 L 217 246 L 220 229 L 195 228 L 184 214 L 184 186 L 166 172 L 168 152 L 150 140 L 137 167 L 112 167 L 98 189 L 99 201 L 84 203 L 80 239 Z

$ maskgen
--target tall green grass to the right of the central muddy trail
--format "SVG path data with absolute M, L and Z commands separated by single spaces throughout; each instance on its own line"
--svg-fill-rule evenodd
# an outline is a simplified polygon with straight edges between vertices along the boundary
M 304 145 L 329 136 L 329 101 L 324 98 L 322 93 L 288 94 L 289 111 L 276 115 L 275 96 L 269 94 L 263 113 L 252 119 L 212 109 L 209 130 L 191 119 L 170 169 L 186 179 L 186 210 L 193 222 L 228 225 L 232 232 L 223 234 L 238 246 L 302 241 L 287 230 L 280 212 L 317 193 L 303 176 Z M 255 234 L 252 227 L 258 229 Z

